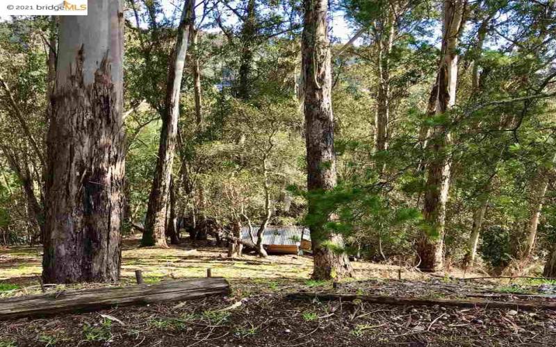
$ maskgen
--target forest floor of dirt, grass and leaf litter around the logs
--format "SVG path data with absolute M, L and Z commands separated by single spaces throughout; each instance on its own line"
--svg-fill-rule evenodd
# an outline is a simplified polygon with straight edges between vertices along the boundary
M 122 282 L 141 269 L 147 282 L 213 276 L 231 283 L 232 294 L 183 303 L 117 307 L 44 319 L 0 322 L 0 347 L 15 346 L 555 346 L 556 312 L 433 306 L 379 305 L 361 301 L 291 301 L 286 294 L 341 294 L 472 298 L 542 291 L 553 300 L 556 283 L 457 281 L 399 266 L 354 262 L 357 278 L 339 283 L 308 280 L 311 257 L 245 255 L 230 260 L 224 248 L 190 244 L 138 249 L 127 239 Z M 40 248 L 0 250 L 0 298 L 40 292 Z M 461 277 L 461 273 L 451 273 Z M 95 285 L 81 285 L 92 287 Z M 76 286 L 74 286 L 76 287 Z M 49 291 L 67 289 L 49 287 Z M 547 294 L 548 293 L 548 294 Z M 537 300 L 532 298 L 532 300 Z M 234 310 L 218 312 L 241 301 Z

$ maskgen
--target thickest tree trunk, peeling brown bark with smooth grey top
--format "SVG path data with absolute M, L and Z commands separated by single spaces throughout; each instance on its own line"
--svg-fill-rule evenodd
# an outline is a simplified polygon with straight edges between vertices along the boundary
M 60 20 L 47 136 L 45 282 L 120 278 L 123 23 L 117 0 L 91 1 L 87 16 Z

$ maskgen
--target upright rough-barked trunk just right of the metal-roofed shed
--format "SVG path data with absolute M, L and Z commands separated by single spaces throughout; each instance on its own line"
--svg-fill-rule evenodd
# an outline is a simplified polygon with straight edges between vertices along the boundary
M 304 80 L 304 115 L 309 192 L 333 189 L 336 185 L 334 153 L 334 115 L 332 114 L 332 71 L 327 31 L 327 0 L 304 1 L 302 69 Z M 309 213 L 316 212 L 309 198 Z M 352 276 L 353 269 L 345 253 L 334 252 L 328 244 L 343 247 L 341 235 L 325 230 L 324 223 L 310 228 L 313 246 L 313 278 L 327 280 Z

